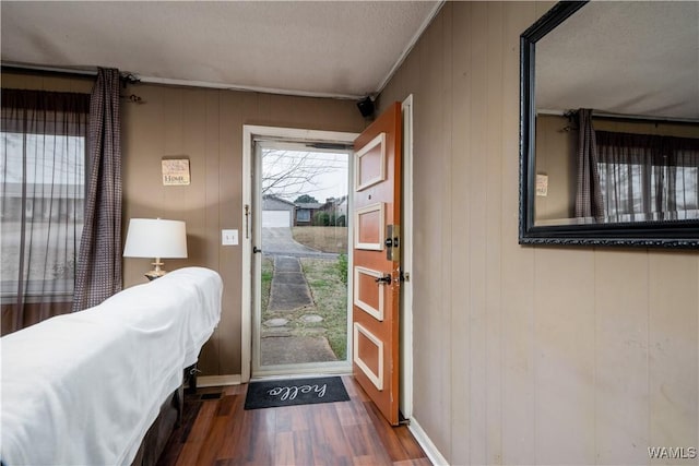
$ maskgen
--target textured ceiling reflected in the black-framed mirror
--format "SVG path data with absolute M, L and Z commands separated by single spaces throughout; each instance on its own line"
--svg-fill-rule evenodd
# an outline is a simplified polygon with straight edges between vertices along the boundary
M 536 108 L 699 118 L 699 2 L 590 2 L 536 44 Z

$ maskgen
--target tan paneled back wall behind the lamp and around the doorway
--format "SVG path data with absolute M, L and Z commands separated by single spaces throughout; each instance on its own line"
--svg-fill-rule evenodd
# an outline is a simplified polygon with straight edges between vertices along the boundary
M 86 92 L 91 80 L 2 75 L 17 88 Z M 189 256 L 165 260 L 166 270 L 205 266 L 224 280 L 221 323 L 200 358 L 203 375 L 240 374 L 240 246 L 221 246 L 221 229 L 244 231 L 242 126 L 360 132 L 367 122 L 352 100 L 292 97 L 193 87 L 140 84 L 123 89 L 142 104 L 121 100 L 123 237 L 130 218 L 161 217 L 187 223 Z M 161 160 L 190 159 L 191 184 L 164 187 Z M 150 260 L 125 259 L 125 287 L 145 283 Z

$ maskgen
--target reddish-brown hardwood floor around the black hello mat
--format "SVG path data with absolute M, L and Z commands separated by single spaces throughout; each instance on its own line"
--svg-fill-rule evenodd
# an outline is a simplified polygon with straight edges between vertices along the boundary
M 158 466 L 431 464 L 406 426 L 389 426 L 352 377 L 342 380 L 350 402 L 253 410 L 244 409 L 247 385 L 199 389 Z

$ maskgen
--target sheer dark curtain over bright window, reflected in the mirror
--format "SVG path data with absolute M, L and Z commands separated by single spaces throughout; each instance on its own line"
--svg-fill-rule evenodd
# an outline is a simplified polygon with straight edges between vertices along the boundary
M 675 219 L 699 208 L 698 139 L 597 131 L 596 145 L 606 216 Z

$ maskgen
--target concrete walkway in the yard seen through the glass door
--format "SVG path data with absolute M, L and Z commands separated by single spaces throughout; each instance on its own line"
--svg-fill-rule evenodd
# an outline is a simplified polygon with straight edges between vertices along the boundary
M 315 310 L 313 299 L 298 258 L 274 255 L 274 275 L 268 308 L 283 315 L 288 313 L 289 318 L 295 311 L 304 308 L 308 308 L 309 312 Z M 313 315 L 306 314 L 304 318 L 312 319 Z M 320 319 L 318 315 L 316 318 Z M 286 326 L 288 323 L 289 320 L 285 318 L 262 323 L 260 342 L 262 366 L 337 360 L 328 338 L 322 335 L 293 335 L 293 330 Z

